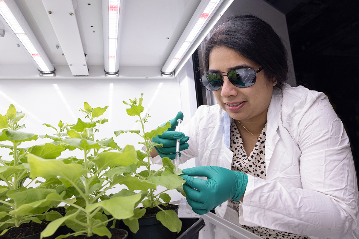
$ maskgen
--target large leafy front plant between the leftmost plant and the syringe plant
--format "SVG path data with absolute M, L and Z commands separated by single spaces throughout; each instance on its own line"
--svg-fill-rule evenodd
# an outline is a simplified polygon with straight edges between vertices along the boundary
M 144 197 L 141 192 L 134 193 L 125 189 L 111 197 L 105 194 L 117 183 L 124 183 L 123 180 L 108 177 L 105 174 L 106 169 L 127 167 L 137 162 L 137 153 L 133 146 L 127 145 L 120 149 L 112 138 L 94 139 L 98 126 L 107 122 L 106 119 L 94 119 L 101 116 L 106 109 L 107 106 L 92 108 L 85 102 L 84 109 L 80 110 L 90 122 L 79 118 L 75 125 L 66 127 L 66 133 L 62 133 L 65 127 L 62 123 L 59 130 L 46 125 L 55 128 L 57 135 L 45 135 L 44 138 L 52 138 L 58 145 L 69 150 L 81 150 L 82 159 L 45 159 L 32 153 L 28 154 L 30 178 L 42 177 L 45 182 L 51 182 L 51 185 L 58 189 L 56 197 L 47 200 L 69 205 L 66 215 L 48 224 L 42 231 L 41 238 L 53 235 L 62 224 L 73 231 L 57 238 L 94 234 L 111 238 L 107 223 L 114 218 L 126 219 L 134 216 L 134 207 Z M 132 180 L 133 183 L 141 183 L 139 179 L 131 178 L 135 179 Z M 148 188 L 145 184 L 143 187 Z M 111 215 L 110 218 L 106 214 Z

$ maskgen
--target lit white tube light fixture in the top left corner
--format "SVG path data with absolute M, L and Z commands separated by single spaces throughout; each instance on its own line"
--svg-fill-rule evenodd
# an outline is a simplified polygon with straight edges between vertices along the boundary
M 55 68 L 14 0 L 0 0 L 0 20 L 9 25 L 10 33 L 17 39 L 19 46 L 23 46 L 29 53 L 40 76 L 55 76 Z

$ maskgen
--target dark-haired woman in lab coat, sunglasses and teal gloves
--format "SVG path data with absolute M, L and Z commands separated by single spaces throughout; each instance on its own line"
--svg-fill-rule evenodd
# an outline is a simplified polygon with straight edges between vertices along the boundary
M 236 212 L 239 224 L 263 238 L 356 238 L 348 136 L 325 94 L 285 84 L 286 60 L 269 24 L 229 18 L 206 42 L 201 78 L 218 105 L 199 107 L 183 134 L 171 131 L 177 115 L 153 141 L 164 144 L 161 157 L 173 158 L 181 137 L 180 163 L 199 157 L 202 166 L 182 171 L 198 214 L 215 208 L 233 220 Z

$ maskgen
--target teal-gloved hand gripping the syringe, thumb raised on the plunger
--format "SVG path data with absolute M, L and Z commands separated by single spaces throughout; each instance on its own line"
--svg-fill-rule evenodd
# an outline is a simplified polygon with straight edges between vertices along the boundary
M 180 151 L 188 149 L 188 143 L 186 142 L 188 141 L 188 139 L 190 139 L 190 137 L 185 137 L 185 134 L 183 134 L 182 132 L 174 131 L 176 130 L 176 127 L 178 125 L 178 119 L 183 120 L 183 113 L 181 111 L 177 113 L 176 118 L 169 121 L 171 123 L 171 128 L 163 132 L 162 135 L 157 135 L 156 137 L 152 138 L 152 142 L 163 144 L 163 147 L 155 147 L 157 153 L 161 158 L 176 158 L 177 139 L 180 139 Z

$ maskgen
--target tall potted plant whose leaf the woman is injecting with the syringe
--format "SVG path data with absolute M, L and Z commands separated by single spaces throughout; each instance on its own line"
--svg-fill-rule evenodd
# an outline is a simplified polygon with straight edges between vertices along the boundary
M 171 124 L 168 121 L 164 125 L 161 125 L 158 128 L 151 130 L 150 132 L 145 132 L 144 124 L 148 121 L 150 116 L 148 113 L 141 116 L 141 113 L 144 111 L 142 101 L 143 94 L 141 94 L 141 97 L 138 100 L 136 98 L 134 100 L 130 99 L 130 103 L 123 101 L 124 104 L 131 106 L 126 110 L 127 114 L 130 116 L 139 117 L 139 120 L 136 120 L 136 122 L 141 123 L 142 132 L 141 130 L 118 130 L 114 133 L 116 136 L 127 132 L 138 134 L 143 139 L 143 141 L 139 144 L 143 144 L 145 146 L 145 153 L 137 151 L 138 161 L 136 163 L 131 164 L 129 167 L 114 167 L 113 169 L 107 171 L 106 174 L 108 176 L 121 173 L 123 175 L 134 174 L 135 177 L 154 185 L 153 187 L 148 188 L 146 198 L 141 201 L 143 208 L 134 209 L 134 216 L 123 220 L 123 223 L 125 223 L 133 233 L 137 233 L 139 230 L 138 219 L 145 215 L 146 209 L 149 210 L 153 208 L 158 209 L 158 212 L 155 214 L 155 219 L 157 219 L 163 226 L 168 228 L 169 231 L 179 233 L 181 231 L 182 222 L 174 210 L 166 210 L 166 206 L 171 201 L 171 197 L 165 192 L 168 190 L 176 189 L 177 191 L 181 192 L 183 196 L 185 196 L 182 183 L 186 181 L 183 180 L 182 177 L 178 176 L 181 173 L 181 170 L 179 170 L 177 173 L 178 175 L 174 173 L 175 166 L 171 162 L 171 159 L 168 157 L 162 159 L 163 166 L 158 170 L 152 170 L 150 163 L 150 152 L 152 152 L 154 147 L 162 146 L 161 144 L 151 142 L 151 139 L 157 135 L 162 134 L 165 130 L 171 127 Z M 137 172 L 137 169 L 140 167 L 144 168 L 144 170 Z M 123 176 L 118 175 L 116 177 Z M 156 186 L 158 185 L 164 186 L 166 189 L 158 193 L 155 191 Z M 133 187 L 131 190 L 139 190 L 139 188 Z M 148 232 L 146 233 L 148 234 Z

